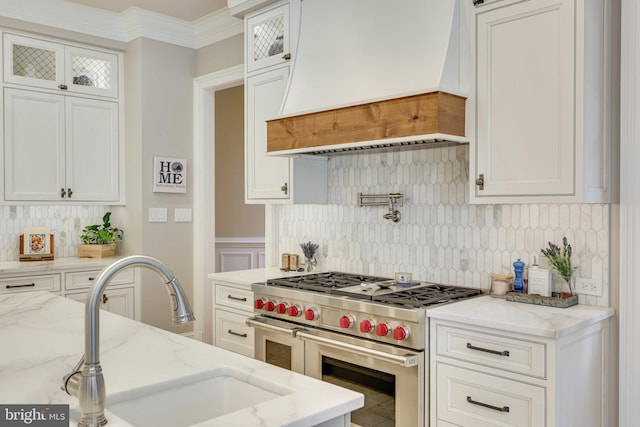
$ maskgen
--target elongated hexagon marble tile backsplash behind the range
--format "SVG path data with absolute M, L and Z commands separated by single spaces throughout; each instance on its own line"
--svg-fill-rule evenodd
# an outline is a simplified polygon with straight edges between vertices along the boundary
M 301 242 L 320 244 L 319 267 L 490 288 L 492 273 L 513 262 L 545 265 L 540 249 L 566 236 L 578 275 L 601 281 L 609 305 L 610 207 L 606 204 L 471 205 L 468 147 L 336 155 L 329 159 L 327 205 L 278 206 L 282 252 Z M 403 193 L 402 219 L 383 219 L 386 207 L 359 207 L 358 193 Z

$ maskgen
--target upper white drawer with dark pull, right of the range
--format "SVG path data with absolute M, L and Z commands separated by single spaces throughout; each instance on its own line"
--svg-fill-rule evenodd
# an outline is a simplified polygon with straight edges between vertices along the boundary
M 534 377 L 546 377 L 546 345 L 468 329 L 436 325 L 438 356 L 454 357 Z

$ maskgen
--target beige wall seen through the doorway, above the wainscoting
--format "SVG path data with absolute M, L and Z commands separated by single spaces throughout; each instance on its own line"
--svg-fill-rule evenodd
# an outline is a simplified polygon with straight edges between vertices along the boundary
M 264 238 L 264 205 L 244 203 L 243 118 L 244 86 L 216 92 L 216 238 Z

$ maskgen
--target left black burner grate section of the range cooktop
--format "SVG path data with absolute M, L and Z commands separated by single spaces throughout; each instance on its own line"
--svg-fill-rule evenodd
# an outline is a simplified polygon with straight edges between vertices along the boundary
M 304 289 L 315 292 L 334 293 L 336 289 L 357 286 L 363 283 L 383 282 L 387 280 L 390 279 L 349 273 L 327 272 L 270 279 L 267 281 L 267 286 L 282 286 L 286 288 Z

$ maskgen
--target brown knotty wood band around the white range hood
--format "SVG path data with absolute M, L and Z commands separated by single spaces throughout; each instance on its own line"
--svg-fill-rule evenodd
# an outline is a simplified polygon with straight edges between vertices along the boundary
M 447 134 L 464 137 L 466 98 L 430 92 L 267 121 L 267 152 Z

